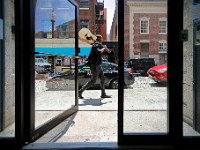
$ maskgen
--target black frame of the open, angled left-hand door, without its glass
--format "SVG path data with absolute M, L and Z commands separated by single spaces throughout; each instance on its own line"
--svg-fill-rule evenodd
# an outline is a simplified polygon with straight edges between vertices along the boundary
M 78 5 L 74 0 L 68 0 L 75 7 L 75 57 L 78 56 Z M 35 129 L 35 70 L 34 68 L 34 57 L 35 57 L 35 1 L 33 0 L 25 0 L 23 1 L 23 12 L 22 18 L 24 18 L 22 22 L 23 30 L 20 30 L 22 35 L 22 46 L 20 49 L 20 56 L 18 58 L 20 60 L 21 72 L 17 76 L 21 76 L 21 92 L 22 95 L 22 107 L 23 107 L 23 135 L 24 142 L 34 142 L 42 135 L 47 133 L 49 130 L 57 126 L 59 123 L 64 121 L 66 118 L 70 117 L 72 114 L 78 111 L 78 83 L 77 83 L 77 64 L 75 66 L 75 106 L 65 110 L 58 116 L 53 119 L 47 121 L 39 128 Z M 29 37 L 29 38 L 27 38 Z M 76 63 L 78 62 L 78 57 L 76 58 Z M 30 69 L 31 68 L 31 69 Z M 19 80 L 19 79 L 18 79 Z

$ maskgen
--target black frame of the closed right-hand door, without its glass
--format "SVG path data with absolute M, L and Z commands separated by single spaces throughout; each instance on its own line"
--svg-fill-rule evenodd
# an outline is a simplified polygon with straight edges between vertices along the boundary
M 118 41 L 119 49 L 124 49 L 124 1 L 118 1 Z M 119 80 L 118 90 L 118 144 L 119 145 L 175 145 L 183 135 L 183 42 L 180 31 L 183 29 L 183 1 L 168 0 L 168 83 L 167 83 L 167 129 L 165 133 L 123 133 L 124 89 Z M 176 58 L 174 57 L 176 56 Z M 180 59 L 177 59 L 180 58 Z M 174 65 L 176 64 L 176 65 Z M 124 52 L 119 51 L 119 78 L 124 78 Z M 174 71 L 176 70 L 176 74 Z

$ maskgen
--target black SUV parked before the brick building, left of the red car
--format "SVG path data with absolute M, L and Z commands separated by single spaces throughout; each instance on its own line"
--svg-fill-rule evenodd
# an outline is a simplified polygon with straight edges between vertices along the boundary
M 140 76 L 148 76 L 147 71 L 155 65 L 154 58 L 134 58 L 128 59 L 124 63 L 126 68 L 131 68 L 132 73 L 139 74 Z

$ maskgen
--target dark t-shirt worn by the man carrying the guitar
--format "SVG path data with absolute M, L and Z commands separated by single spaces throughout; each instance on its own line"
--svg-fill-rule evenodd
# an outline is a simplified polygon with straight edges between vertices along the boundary
M 90 55 L 88 57 L 88 63 L 89 65 L 100 65 L 102 63 L 102 58 L 101 58 L 101 49 L 103 48 L 103 45 L 100 44 L 99 42 L 95 42 L 92 45 Z

